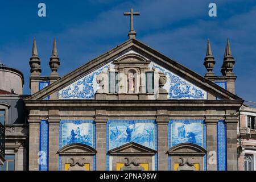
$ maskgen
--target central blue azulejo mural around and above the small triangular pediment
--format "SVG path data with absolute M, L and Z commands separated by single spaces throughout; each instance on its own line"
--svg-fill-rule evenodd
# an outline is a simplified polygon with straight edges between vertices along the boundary
M 145 147 L 157 148 L 157 125 L 155 120 L 109 120 L 106 128 L 106 150 L 135 142 Z M 107 154 L 106 168 L 110 167 L 110 159 Z M 154 169 L 157 170 L 157 154 L 152 157 Z

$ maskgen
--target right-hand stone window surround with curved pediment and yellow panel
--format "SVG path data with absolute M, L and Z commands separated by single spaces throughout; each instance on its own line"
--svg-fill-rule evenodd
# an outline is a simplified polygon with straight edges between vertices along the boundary
M 197 144 L 177 144 L 167 153 L 171 158 L 171 171 L 204 171 L 204 156 L 207 151 Z

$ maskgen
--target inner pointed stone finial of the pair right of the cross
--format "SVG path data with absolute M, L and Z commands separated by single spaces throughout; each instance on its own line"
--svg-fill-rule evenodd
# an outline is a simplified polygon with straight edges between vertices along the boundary
M 207 69 L 207 73 L 205 76 L 214 76 L 213 68 L 215 65 L 216 61 L 214 61 L 214 57 L 212 55 L 212 48 L 210 47 L 210 40 L 208 39 L 207 41 L 207 53 L 206 57 L 204 59 L 204 66 Z

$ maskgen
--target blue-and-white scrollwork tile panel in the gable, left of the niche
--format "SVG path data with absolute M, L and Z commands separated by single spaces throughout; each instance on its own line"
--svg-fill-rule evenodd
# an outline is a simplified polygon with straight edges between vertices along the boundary
M 97 75 L 102 72 L 107 72 L 109 68 L 112 68 L 112 64 L 107 64 L 104 67 L 96 69 L 89 75 L 85 75 L 72 84 L 65 86 L 65 88 L 59 90 L 59 99 L 94 99 L 94 94 L 97 91 Z

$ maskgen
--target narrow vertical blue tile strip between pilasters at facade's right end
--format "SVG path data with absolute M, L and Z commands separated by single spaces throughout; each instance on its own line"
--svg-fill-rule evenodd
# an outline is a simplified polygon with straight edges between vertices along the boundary
M 226 123 L 224 120 L 218 121 L 217 125 L 217 169 L 218 171 L 227 170 L 227 151 L 226 151 Z

